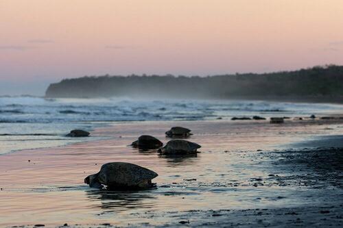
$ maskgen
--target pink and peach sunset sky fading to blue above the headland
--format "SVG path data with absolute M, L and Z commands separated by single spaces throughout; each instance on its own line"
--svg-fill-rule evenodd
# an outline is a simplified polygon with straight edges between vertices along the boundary
M 0 0 L 0 94 L 84 75 L 343 64 L 342 0 Z

